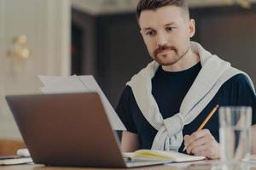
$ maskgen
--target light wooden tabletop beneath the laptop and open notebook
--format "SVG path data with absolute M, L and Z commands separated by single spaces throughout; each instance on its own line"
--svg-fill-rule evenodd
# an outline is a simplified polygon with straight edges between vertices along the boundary
M 204 164 L 203 164 L 204 163 Z M 187 163 L 188 164 L 188 163 Z M 131 170 L 211 170 L 221 169 L 217 167 L 218 163 L 212 161 L 201 161 L 201 163 L 195 163 L 188 166 L 183 164 L 169 164 L 162 166 L 152 167 L 137 167 L 131 168 Z M 215 168 L 214 168 L 215 166 Z M 0 166 L 0 170 L 121 170 L 120 168 L 97 168 L 97 167 L 45 167 L 44 165 L 16 165 L 16 166 Z M 124 168 L 125 169 L 125 168 Z M 250 170 L 256 170 L 256 167 L 251 167 Z

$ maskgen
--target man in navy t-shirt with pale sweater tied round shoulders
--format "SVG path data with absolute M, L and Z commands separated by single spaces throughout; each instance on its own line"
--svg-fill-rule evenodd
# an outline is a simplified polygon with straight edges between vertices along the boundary
M 122 150 L 185 146 L 189 154 L 219 158 L 218 113 L 196 130 L 215 105 L 253 105 L 253 82 L 190 42 L 195 20 L 185 0 L 140 0 L 137 21 L 154 61 L 127 82 L 119 100 L 116 111 L 127 128 Z

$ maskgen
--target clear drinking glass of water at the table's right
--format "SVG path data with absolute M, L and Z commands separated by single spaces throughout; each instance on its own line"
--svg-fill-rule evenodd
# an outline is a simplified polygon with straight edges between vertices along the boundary
M 249 169 L 252 108 L 247 106 L 221 107 L 218 113 L 221 160 L 224 169 Z

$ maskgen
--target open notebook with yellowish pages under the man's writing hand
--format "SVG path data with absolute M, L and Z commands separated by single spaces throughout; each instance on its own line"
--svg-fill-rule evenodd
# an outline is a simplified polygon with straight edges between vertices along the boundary
M 199 161 L 206 159 L 205 156 L 190 156 L 175 151 L 160 150 L 137 150 L 135 152 L 124 152 L 123 156 L 131 160 L 170 160 L 176 162 Z

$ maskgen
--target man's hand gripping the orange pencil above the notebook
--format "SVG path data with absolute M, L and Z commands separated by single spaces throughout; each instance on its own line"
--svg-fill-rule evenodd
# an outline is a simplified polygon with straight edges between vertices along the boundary
M 210 159 L 220 158 L 220 144 L 214 139 L 208 129 L 184 136 L 187 153 L 195 156 L 207 156 Z

